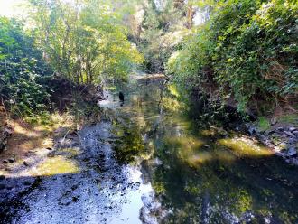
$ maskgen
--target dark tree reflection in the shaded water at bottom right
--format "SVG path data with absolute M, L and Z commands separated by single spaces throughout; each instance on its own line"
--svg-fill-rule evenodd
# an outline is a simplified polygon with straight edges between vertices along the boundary
M 266 163 L 270 160 L 272 163 L 265 167 L 264 160 L 259 158 L 233 163 L 208 161 L 191 168 L 179 157 L 180 146 L 165 143 L 156 151 L 163 165 L 155 170 L 153 185 L 163 195 L 164 206 L 173 210 L 167 222 L 196 223 L 208 217 L 210 223 L 248 218 L 262 223 L 267 217 L 293 223 L 298 218 L 295 210 L 298 193 L 294 193 L 297 182 L 289 186 L 279 181 L 281 176 L 291 180 L 295 171 L 272 173 L 279 171 L 275 158 L 267 158 Z M 266 174 L 276 179 L 268 180 Z

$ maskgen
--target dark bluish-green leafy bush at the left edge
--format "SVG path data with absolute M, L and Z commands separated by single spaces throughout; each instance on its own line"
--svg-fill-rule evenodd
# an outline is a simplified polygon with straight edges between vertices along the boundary
M 22 24 L 0 18 L 0 95 L 2 103 L 17 115 L 40 111 L 48 102 L 50 89 L 43 85 L 51 74 L 33 39 Z

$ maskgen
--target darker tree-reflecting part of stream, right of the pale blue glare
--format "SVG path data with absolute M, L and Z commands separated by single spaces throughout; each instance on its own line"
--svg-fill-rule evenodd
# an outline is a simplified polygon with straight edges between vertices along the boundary
M 149 212 L 158 222 L 298 221 L 296 167 L 247 135 L 191 120 L 163 79 L 132 85 L 123 107 L 109 111 L 115 150 L 121 163 L 142 161 L 160 204 Z

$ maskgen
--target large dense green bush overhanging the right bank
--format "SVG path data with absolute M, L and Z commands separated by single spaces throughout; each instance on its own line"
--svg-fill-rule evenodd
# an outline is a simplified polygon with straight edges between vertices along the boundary
M 210 21 L 185 38 L 168 72 L 188 89 L 221 100 L 236 99 L 239 111 L 254 102 L 292 103 L 298 89 L 296 1 L 218 1 Z

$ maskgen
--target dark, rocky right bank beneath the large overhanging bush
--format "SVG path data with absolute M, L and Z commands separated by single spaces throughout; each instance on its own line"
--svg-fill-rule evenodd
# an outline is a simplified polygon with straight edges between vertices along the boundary
M 242 131 L 256 138 L 286 163 L 298 165 L 298 114 L 293 107 L 278 108 L 274 113 L 257 117 L 251 111 L 247 114 L 238 113 L 235 102 L 214 102 L 198 89 L 193 90 L 189 98 L 189 114 L 199 122 L 205 120 L 210 124 L 225 126 L 227 130 Z

